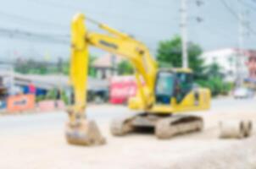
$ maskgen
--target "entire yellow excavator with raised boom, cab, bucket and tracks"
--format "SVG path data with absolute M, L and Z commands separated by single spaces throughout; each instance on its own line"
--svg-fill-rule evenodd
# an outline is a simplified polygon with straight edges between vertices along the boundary
M 107 34 L 88 31 L 86 20 Z M 112 134 L 121 136 L 137 128 L 153 128 L 159 139 L 168 139 L 203 128 L 201 117 L 181 113 L 205 110 L 210 106 L 209 89 L 195 87 L 189 68 L 159 69 L 142 42 L 83 14 L 76 14 L 72 20 L 71 41 L 70 81 L 75 104 L 68 110 L 70 121 L 66 126 L 66 139 L 70 144 L 105 143 L 97 124 L 89 121 L 85 114 L 89 46 L 124 57 L 135 70 L 137 92 L 128 105 L 142 113 L 114 119 L 110 124 Z

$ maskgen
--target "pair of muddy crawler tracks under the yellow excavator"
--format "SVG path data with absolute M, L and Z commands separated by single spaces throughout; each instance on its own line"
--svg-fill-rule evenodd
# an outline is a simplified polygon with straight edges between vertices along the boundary
M 186 134 L 203 129 L 202 117 L 196 116 L 166 116 L 140 113 L 132 117 L 115 119 L 110 131 L 115 136 L 124 136 L 136 128 L 154 128 L 158 139 L 170 139 L 178 134 Z

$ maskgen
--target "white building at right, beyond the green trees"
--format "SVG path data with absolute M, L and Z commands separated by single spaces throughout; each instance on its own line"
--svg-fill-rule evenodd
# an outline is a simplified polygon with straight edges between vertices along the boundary
M 242 79 L 248 78 L 248 52 L 244 50 L 239 58 L 239 69 Z M 217 63 L 226 81 L 234 82 L 237 79 L 237 59 L 239 50 L 237 48 L 223 48 L 214 51 L 203 52 L 202 57 L 205 65 Z

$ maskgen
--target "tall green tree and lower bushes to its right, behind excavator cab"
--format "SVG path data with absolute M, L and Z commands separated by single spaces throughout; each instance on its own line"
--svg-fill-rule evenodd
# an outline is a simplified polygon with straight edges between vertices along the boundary
M 198 85 L 207 87 L 213 95 L 226 95 L 232 88 L 231 83 L 223 80 L 220 65 L 213 63 L 208 67 L 203 65 L 202 49 L 194 43 L 187 48 L 189 68 L 194 72 L 194 79 Z M 180 68 L 182 66 L 181 37 L 176 35 L 167 41 L 160 41 L 157 51 L 159 67 Z

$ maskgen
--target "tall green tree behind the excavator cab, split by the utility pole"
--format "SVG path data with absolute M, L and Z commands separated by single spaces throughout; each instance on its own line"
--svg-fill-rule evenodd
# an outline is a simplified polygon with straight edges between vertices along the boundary
M 189 67 L 192 68 L 196 79 L 203 74 L 203 59 L 200 57 L 202 49 L 194 43 L 189 43 L 188 48 Z M 167 41 L 160 41 L 157 51 L 157 61 L 160 67 L 175 67 L 182 66 L 182 47 L 181 37 L 176 35 L 174 38 Z

